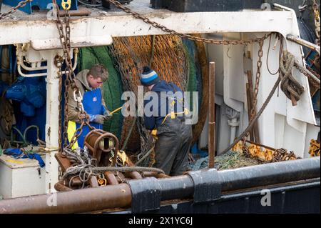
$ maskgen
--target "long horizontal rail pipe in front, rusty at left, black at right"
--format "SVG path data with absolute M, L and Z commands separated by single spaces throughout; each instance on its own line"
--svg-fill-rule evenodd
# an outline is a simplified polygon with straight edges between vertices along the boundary
M 205 175 L 207 175 L 206 172 L 213 174 L 211 170 L 204 170 L 203 172 L 205 172 Z M 200 173 L 198 172 L 198 174 Z M 200 180 L 203 187 L 206 187 L 208 182 L 220 183 L 223 192 L 316 179 L 320 178 L 320 157 L 229 169 L 219 171 L 218 176 L 210 177 L 213 177 L 213 179 L 204 180 L 206 182 Z M 135 182 L 145 182 L 145 180 L 136 180 Z M 193 179 L 189 175 L 158 179 L 158 184 L 161 187 L 162 201 L 190 199 L 197 190 Z M 129 208 L 132 203 L 131 197 L 131 188 L 128 184 L 108 185 L 71 192 L 0 200 L 0 214 L 81 213 L 103 209 Z

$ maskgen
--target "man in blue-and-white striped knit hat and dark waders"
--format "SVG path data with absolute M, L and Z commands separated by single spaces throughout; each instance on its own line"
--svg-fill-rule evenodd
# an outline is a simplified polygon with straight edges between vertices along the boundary
M 144 124 L 156 138 L 154 167 L 170 176 L 183 174 L 188 170 L 192 142 L 192 127 L 185 124 L 183 92 L 175 84 L 161 81 L 148 66 L 143 68 L 141 84 L 151 92 L 144 98 Z

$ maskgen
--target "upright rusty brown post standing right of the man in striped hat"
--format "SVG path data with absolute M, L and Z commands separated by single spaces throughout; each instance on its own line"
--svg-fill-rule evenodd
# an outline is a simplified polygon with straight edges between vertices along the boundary
M 208 167 L 214 167 L 215 157 L 215 62 L 210 62 L 208 88 Z

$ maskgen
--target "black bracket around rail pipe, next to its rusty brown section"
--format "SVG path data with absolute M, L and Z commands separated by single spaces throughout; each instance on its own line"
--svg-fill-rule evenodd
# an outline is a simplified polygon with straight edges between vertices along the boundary
M 143 213 L 161 207 L 161 185 L 155 177 L 131 180 L 127 184 L 131 187 L 131 211 Z

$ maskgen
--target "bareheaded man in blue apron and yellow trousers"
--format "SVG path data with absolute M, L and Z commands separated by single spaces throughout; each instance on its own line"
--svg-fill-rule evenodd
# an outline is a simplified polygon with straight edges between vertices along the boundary
M 89 122 L 92 127 L 96 129 L 103 129 L 103 122 L 111 118 L 111 113 L 108 111 L 105 101 L 103 99 L 101 87 L 103 82 L 108 79 L 108 70 L 101 64 L 96 64 L 91 69 L 84 69 L 80 71 L 76 78 L 76 84 L 83 96 L 83 109 L 89 116 Z M 73 89 L 69 88 L 68 91 L 68 140 L 71 142 L 73 134 L 76 129 L 81 126 L 78 115 L 77 102 L 73 99 Z M 83 148 L 83 140 L 90 132 L 89 127 L 83 127 L 83 132 L 78 141 L 73 145 L 72 149 L 77 147 Z

